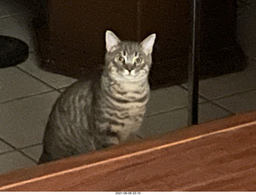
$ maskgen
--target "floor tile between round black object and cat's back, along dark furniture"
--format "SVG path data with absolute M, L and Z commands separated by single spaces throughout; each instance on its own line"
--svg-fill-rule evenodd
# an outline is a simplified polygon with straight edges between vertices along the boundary
M 42 70 L 39 67 L 38 59 L 34 54 L 30 54 L 26 62 L 18 65 L 18 67 L 34 75 L 36 78 L 39 78 L 43 82 L 46 82 L 50 86 L 53 86 L 55 89 L 70 86 L 72 83 L 77 81 L 75 78 L 69 78 L 60 74 L 53 74 Z

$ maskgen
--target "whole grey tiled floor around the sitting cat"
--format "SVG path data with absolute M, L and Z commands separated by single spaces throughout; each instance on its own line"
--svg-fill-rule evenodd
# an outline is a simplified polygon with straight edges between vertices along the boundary
M 30 13 L 18 2 L 0 1 L 0 34 L 20 38 L 30 46 L 26 62 L 0 70 L 0 173 L 36 165 L 51 106 L 63 88 L 76 81 L 38 68 L 33 31 L 27 22 Z M 200 82 L 200 122 L 256 109 L 256 54 L 245 47 L 249 56 L 245 71 Z M 186 84 L 152 91 L 138 134 L 148 137 L 186 126 L 186 105 Z

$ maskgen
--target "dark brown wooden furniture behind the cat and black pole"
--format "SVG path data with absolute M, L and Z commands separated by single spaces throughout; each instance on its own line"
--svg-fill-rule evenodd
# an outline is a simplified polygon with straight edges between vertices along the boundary
M 192 1 L 28 1 L 38 8 L 34 24 L 43 69 L 85 78 L 102 66 L 106 30 L 134 41 L 156 33 L 152 89 L 186 82 Z M 236 42 L 236 0 L 202 1 L 200 18 L 200 78 L 243 70 Z

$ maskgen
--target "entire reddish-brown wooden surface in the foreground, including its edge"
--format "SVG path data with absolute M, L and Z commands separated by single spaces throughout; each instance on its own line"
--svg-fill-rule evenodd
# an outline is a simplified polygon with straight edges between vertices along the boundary
M 0 177 L 2 191 L 253 191 L 256 112 Z

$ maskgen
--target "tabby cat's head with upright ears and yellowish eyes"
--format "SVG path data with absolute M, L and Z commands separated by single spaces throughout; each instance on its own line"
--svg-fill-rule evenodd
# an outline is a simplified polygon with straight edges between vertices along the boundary
M 141 43 L 122 42 L 113 32 L 106 31 L 106 64 L 115 80 L 139 81 L 147 78 L 152 63 L 155 34 Z

